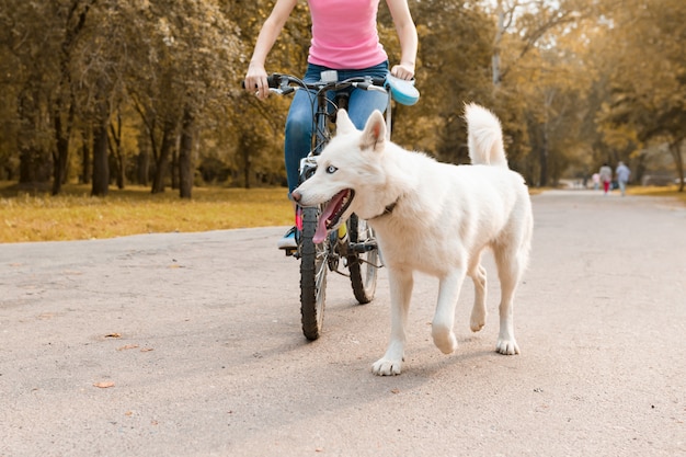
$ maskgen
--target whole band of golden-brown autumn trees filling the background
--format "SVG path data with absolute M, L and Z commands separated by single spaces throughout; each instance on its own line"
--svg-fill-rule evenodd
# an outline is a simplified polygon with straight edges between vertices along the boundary
M 683 170 L 683 2 L 409 3 L 422 96 L 392 105 L 397 142 L 465 162 L 464 103 L 478 102 L 499 115 L 512 167 L 534 184 L 636 161 L 655 144 Z M 285 183 L 290 100 L 260 101 L 239 85 L 272 5 L 0 0 L 0 179 L 52 179 L 59 193 L 69 176 L 92 174 L 92 194 L 106 195 L 113 182 L 151 176 L 151 192 L 171 182 L 182 197 L 198 179 Z M 305 70 L 307 8 L 297 3 L 267 71 Z M 393 65 L 400 46 L 384 2 L 379 34 Z

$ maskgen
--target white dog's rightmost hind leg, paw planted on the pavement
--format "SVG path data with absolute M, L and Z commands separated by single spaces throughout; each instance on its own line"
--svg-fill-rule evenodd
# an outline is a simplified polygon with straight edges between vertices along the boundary
M 498 264 L 501 284 L 500 333 L 495 351 L 501 354 L 519 354 L 519 346 L 514 336 L 514 295 L 524 270 L 524 261 L 519 252 L 507 249 L 493 250 Z

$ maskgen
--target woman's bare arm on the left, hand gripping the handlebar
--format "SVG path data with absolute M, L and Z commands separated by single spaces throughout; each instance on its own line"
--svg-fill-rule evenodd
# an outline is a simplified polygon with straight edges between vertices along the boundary
M 260 99 L 266 99 L 270 95 L 266 70 L 264 69 L 266 56 L 272 50 L 278 34 L 297 2 L 298 0 L 276 0 L 272 13 L 264 21 L 260 35 L 258 35 L 255 48 L 252 52 L 252 58 L 245 73 L 245 90 L 250 92 L 256 90 L 256 95 Z

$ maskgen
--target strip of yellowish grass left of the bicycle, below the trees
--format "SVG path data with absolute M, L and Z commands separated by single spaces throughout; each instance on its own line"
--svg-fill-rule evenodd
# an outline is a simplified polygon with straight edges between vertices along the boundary
M 0 242 L 64 241 L 127 235 L 206 231 L 293 224 L 285 188 L 196 187 L 190 201 L 175 191 L 111 190 L 91 197 L 90 186 L 69 184 L 64 194 L 18 192 L 0 183 Z

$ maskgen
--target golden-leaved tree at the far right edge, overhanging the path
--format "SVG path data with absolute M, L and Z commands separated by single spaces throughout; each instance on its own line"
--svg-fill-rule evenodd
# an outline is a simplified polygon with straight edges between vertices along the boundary
M 607 24 L 602 53 L 609 100 L 599 119 L 607 135 L 631 130 L 640 144 L 666 142 L 684 191 L 686 3 L 630 0 Z

